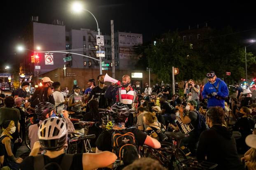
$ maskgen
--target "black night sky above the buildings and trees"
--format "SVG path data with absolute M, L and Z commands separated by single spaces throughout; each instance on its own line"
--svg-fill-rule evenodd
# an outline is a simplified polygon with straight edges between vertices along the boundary
M 72 14 L 72 0 L 24 0 L 2 1 L 1 51 L 4 64 L 18 55 L 15 46 L 31 16 L 39 16 L 39 22 L 52 23 L 61 20 L 66 29 L 89 28 L 97 30 L 94 18 L 88 12 Z M 180 1 L 174 0 L 83 0 L 86 9 L 98 20 L 103 34 L 110 34 L 110 20 L 114 30 L 142 33 L 143 41 L 149 41 L 168 30 L 186 30 L 205 23 L 211 28 L 230 25 L 244 39 L 256 38 L 256 13 L 253 2 Z M 253 30 L 254 29 L 254 30 Z M 5 60 L 6 59 L 6 60 Z

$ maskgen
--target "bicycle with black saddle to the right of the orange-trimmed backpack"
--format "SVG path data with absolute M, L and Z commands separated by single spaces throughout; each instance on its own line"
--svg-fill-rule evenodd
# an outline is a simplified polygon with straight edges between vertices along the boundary
M 161 148 L 154 149 L 147 145 L 143 145 L 142 157 L 150 157 L 158 160 L 165 168 L 169 170 L 180 170 L 184 167 L 183 164 L 180 164 L 183 160 L 186 160 L 187 157 L 179 148 L 182 138 L 189 136 L 188 134 L 174 133 L 174 132 L 165 132 L 172 139 L 171 142 L 160 142 Z

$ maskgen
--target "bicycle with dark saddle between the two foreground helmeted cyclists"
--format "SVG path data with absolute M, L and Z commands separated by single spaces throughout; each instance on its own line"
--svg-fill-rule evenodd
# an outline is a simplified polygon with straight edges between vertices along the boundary
M 80 124 L 83 126 L 84 133 L 72 133 L 72 137 L 68 140 L 68 154 L 77 153 L 91 153 L 93 152 L 89 139 L 95 138 L 95 134 L 86 135 L 89 127 L 93 126 L 95 122 L 84 122 L 79 119 L 70 119 L 72 122 L 77 121 L 74 124 Z M 82 141 L 82 142 L 81 142 Z M 80 150 L 81 149 L 81 150 Z

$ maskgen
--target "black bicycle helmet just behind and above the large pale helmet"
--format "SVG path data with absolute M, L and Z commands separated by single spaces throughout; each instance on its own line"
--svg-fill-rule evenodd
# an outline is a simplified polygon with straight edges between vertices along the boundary
M 41 102 L 35 106 L 35 114 L 39 119 L 44 118 L 47 113 L 50 113 L 54 108 L 55 106 L 49 102 Z

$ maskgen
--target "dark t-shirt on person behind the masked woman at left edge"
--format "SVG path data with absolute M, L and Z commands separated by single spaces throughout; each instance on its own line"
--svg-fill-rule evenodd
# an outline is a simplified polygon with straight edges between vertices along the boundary
M 12 134 L 13 140 L 19 137 L 18 134 L 18 121 L 21 119 L 20 111 L 16 108 L 0 108 L 0 125 L 6 120 L 13 120 L 16 126 L 16 131 Z

